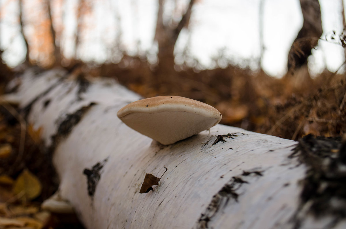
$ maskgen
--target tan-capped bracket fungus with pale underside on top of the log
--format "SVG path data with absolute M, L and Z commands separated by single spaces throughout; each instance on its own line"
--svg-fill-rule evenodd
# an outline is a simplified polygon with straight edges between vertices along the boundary
M 206 103 L 171 95 L 129 103 L 117 116 L 127 126 L 163 145 L 207 130 L 222 118 L 217 109 Z

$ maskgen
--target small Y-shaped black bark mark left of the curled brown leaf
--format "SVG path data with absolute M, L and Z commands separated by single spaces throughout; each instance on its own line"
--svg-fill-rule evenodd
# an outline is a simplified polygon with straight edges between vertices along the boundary
M 99 183 L 101 179 L 101 169 L 103 168 L 104 164 L 108 161 L 108 158 L 104 159 L 102 162 L 96 163 L 94 166 L 92 166 L 91 170 L 88 168 L 85 168 L 83 171 L 83 174 L 86 175 L 87 178 L 87 184 L 88 184 L 88 195 L 93 198 L 97 184 Z

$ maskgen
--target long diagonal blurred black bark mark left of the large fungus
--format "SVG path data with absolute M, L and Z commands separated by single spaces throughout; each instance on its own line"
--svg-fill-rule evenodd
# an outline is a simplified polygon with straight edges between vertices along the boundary
M 49 152 L 54 152 L 57 144 L 59 144 L 63 138 L 66 138 L 70 134 L 73 127 L 80 122 L 84 114 L 95 104 L 96 103 L 91 102 L 89 105 L 80 108 L 76 112 L 67 114 L 66 118 L 60 123 L 56 134 L 52 136 L 52 145 L 49 147 Z

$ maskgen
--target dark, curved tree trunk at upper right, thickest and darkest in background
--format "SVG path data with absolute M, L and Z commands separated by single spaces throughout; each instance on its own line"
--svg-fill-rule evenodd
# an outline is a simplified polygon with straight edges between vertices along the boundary
M 323 32 L 318 0 L 300 0 L 300 6 L 303 13 L 303 27 L 295 38 L 288 55 L 288 71 L 290 72 L 307 65 L 311 49 L 317 45 Z

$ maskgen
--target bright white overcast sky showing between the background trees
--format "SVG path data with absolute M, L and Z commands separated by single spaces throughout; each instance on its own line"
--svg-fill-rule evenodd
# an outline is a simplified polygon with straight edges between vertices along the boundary
M 9 0 L 0 0 L 1 6 Z M 18 10 L 16 1 L 7 11 Z M 73 34 L 75 20 L 73 4 L 76 0 L 65 1 L 65 21 L 68 22 L 63 36 L 64 54 L 69 57 L 73 51 Z M 170 1 L 165 6 L 167 15 L 171 12 Z M 188 0 L 178 0 L 187 4 Z M 341 0 L 320 0 L 322 26 L 325 34 L 333 30 L 342 32 Z M 212 57 L 222 50 L 225 57 L 242 67 L 249 65 L 256 69 L 260 56 L 259 43 L 259 3 L 260 0 L 200 0 L 195 3 L 189 29 L 184 29 L 177 41 L 176 62 L 181 62 L 179 54 L 188 45 L 189 54 L 197 58 L 203 67 L 212 67 Z M 86 42 L 79 55 L 85 60 L 106 61 L 106 53 L 119 31 L 122 32 L 121 45 L 129 54 L 140 49 L 155 52 L 153 37 L 156 25 L 157 0 L 99 0 L 95 6 L 94 18 L 86 18 L 86 23 L 93 26 L 85 31 Z M 118 13 L 114 13 L 116 12 Z M 13 13 L 16 15 L 16 13 Z M 117 26 L 117 17 L 120 27 Z M 3 58 L 11 65 L 16 65 L 25 56 L 23 41 L 18 36 L 18 28 L 11 26 L 8 18 L 1 23 L 1 45 L 7 48 Z M 292 41 L 302 26 L 299 0 L 264 0 L 264 58 L 263 69 L 270 75 L 282 76 L 286 72 L 287 56 Z M 13 24 L 15 24 L 13 22 Z M 10 38 L 4 38 L 4 36 Z M 322 35 L 322 37 L 324 36 Z M 344 62 L 341 46 L 320 41 L 310 61 L 312 73 L 321 72 L 325 67 L 335 71 Z M 4 47 L 5 46 L 5 47 Z M 221 63 L 222 64 L 222 63 Z

